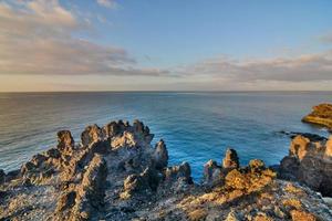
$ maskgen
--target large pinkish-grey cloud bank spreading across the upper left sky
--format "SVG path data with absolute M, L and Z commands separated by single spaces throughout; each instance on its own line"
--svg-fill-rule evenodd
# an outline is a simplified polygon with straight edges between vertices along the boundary
M 0 74 L 160 75 L 124 49 L 75 36 L 89 24 L 58 0 L 0 3 Z

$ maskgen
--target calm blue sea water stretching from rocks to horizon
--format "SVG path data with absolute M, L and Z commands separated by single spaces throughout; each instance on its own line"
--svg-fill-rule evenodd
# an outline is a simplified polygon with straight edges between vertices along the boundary
M 0 168 L 17 169 L 56 145 L 56 131 L 79 140 L 89 124 L 138 118 L 163 138 L 170 164 L 188 161 L 198 179 L 208 159 L 221 161 L 227 147 L 241 164 L 252 158 L 278 164 L 290 139 L 279 130 L 328 136 L 301 123 L 311 106 L 332 102 L 331 92 L 299 93 L 19 93 L 0 94 Z

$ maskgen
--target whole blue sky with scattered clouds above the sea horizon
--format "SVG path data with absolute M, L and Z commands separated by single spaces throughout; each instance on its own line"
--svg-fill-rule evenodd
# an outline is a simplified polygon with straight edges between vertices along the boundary
M 332 91 L 330 0 L 0 0 L 0 92 Z

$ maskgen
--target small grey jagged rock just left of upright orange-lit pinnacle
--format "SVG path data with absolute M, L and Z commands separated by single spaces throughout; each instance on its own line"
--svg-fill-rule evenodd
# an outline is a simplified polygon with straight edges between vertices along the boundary
M 221 167 L 219 167 L 216 161 L 210 159 L 204 165 L 204 185 L 215 186 L 221 182 L 222 179 Z

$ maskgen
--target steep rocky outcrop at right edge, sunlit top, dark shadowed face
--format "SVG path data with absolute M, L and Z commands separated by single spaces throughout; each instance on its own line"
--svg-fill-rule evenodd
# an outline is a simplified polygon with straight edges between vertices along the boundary
M 310 137 L 293 138 L 289 156 L 280 164 L 280 176 L 305 183 L 323 196 L 332 196 L 332 136 L 328 141 L 317 141 Z

